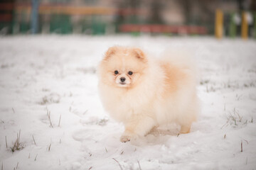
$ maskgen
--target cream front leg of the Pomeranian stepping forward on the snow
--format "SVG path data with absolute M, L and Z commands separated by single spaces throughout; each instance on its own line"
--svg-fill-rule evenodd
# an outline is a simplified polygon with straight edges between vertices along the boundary
M 128 142 L 136 139 L 138 136 L 144 136 L 155 125 L 154 119 L 149 117 L 149 115 L 134 114 L 124 123 L 125 130 L 122 137 L 120 137 L 120 141 Z

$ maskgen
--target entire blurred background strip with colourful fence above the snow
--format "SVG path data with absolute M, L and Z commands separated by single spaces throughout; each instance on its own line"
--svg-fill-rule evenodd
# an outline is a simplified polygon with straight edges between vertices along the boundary
M 0 33 L 256 38 L 256 0 L 1 0 Z

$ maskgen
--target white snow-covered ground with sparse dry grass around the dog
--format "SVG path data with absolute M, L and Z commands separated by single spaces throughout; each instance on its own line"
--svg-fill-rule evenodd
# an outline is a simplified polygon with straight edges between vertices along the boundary
M 103 110 L 95 74 L 97 62 L 112 45 L 139 46 L 154 55 L 168 47 L 193 50 L 201 70 L 202 109 L 191 133 L 177 136 L 178 127 L 171 125 L 159 135 L 119 142 L 124 128 Z M 256 41 L 1 37 L 0 166 L 256 169 Z

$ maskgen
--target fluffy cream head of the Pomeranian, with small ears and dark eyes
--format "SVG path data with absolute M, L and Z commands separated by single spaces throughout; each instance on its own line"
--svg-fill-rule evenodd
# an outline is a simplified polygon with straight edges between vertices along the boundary
M 121 88 L 136 86 L 144 75 L 147 60 L 138 48 L 110 47 L 100 63 L 100 81 Z

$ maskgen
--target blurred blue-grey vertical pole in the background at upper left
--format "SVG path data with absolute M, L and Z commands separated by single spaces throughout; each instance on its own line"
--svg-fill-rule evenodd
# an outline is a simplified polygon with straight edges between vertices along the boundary
M 31 33 L 38 33 L 38 3 L 39 0 L 32 0 L 32 12 L 31 12 Z

